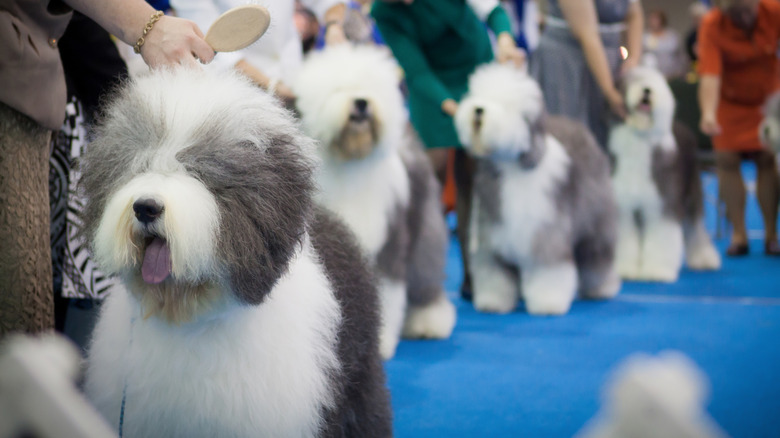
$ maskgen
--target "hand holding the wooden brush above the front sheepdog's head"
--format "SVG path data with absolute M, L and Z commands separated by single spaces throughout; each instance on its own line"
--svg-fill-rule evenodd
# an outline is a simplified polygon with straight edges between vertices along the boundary
M 151 68 L 171 65 L 208 64 L 214 50 L 203 39 L 203 32 L 192 21 L 164 15 L 144 37 L 141 56 Z

